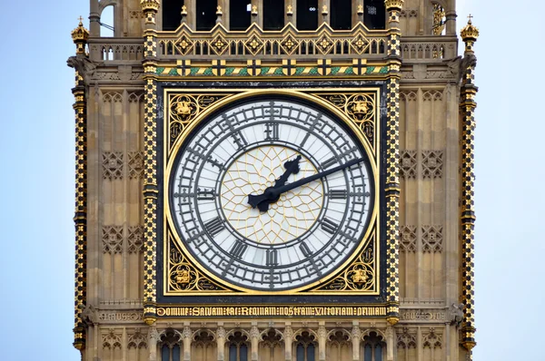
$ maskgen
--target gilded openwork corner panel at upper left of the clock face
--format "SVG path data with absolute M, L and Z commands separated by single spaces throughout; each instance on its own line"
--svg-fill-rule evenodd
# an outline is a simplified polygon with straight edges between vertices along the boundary
M 169 144 L 171 148 L 193 120 L 209 108 L 213 103 L 222 100 L 229 94 L 203 93 L 203 94 L 169 94 L 168 119 L 169 119 Z

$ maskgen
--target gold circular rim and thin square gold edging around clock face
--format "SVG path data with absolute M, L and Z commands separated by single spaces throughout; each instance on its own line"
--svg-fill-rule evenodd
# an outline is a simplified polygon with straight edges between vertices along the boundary
M 366 88 L 366 91 L 368 93 L 374 93 L 375 95 L 375 102 L 376 103 L 380 103 L 380 88 L 376 88 L 376 87 L 370 87 L 370 88 Z M 239 93 L 233 93 L 233 91 L 229 92 L 229 93 L 226 93 L 226 96 L 223 97 L 223 99 L 219 100 L 218 102 L 214 102 L 212 106 L 208 107 L 207 109 L 203 110 L 203 112 L 201 112 L 200 114 L 196 115 L 194 118 L 193 118 L 193 121 L 192 122 L 188 122 L 187 124 L 185 124 L 185 127 L 183 129 L 183 132 L 178 136 L 177 140 L 173 143 L 173 146 L 171 147 L 171 150 L 170 152 L 168 152 L 166 149 L 164 151 L 164 164 L 166 164 L 166 167 L 164 169 L 164 174 L 165 174 L 165 177 L 164 180 L 163 180 L 163 190 L 168 190 L 169 189 L 169 177 L 168 175 L 171 174 L 172 170 L 173 170 L 173 161 L 175 159 L 175 154 L 180 150 L 182 144 L 183 144 L 183 141 L 189 136 L 189 134 L 193 131 L 193 129 L 200 123 L 200 122 L 203 122 L 203 120 L 205 120 L 207 118 L 207 116 L 211 113 L 211 112 L 214 112 L 215 110 L 217 109 L 221 109 L 223 108 L 224 106 L 227 106 L 229 105 L 230 103 L 232 102 L 235 102 L 235 101 L 239 101 L 239 100 L 243 100 L 243 99 L 247 99 L 247 98 L 252 98 L 252 97 L 255 97 L 255 96 L 260 96 L 260 95 L 267 95 L 267 96 L 274 96 L 274 95 L 288 95 L 288 96 L 291 96 L 292 98 L 298 98 L 298 99 L 304 99 L 306 101 L 309 101 L 309 102 L 313 102 L 327 110 L 329 110 L 330 112 L 332 112 L 333 114 L 335 114 L 335 116 L 337 116 L 339 119 L 341 119 L 343 122 L 346 122 L 346 124 L 349 126 L 349 128 L 351 128 L 352 132 L 354 132 L 354 134 L 356 134 L 356 136 L 358 137 L 358 140 L 362 142 L 363 144 L 363 147 L 365 149 L 365 151 L 367 152 L 370 160 L 371 160 L 371 166 L 372 166 L 372 177 L 373 177 L 373 184 L 375 184 L 376 187 L 378 187 L 378 185 L 380 184 L 379 183 L 379 168 L 380 168 L 380 149 L 379 149 L 379 142 L 376 141 L 376 136 L 378 133 L 380 133 L 380 122 L 378 121 L 380 118 L 380 112 L 379 112 L 379 109 L 375 106 L 374 108 L 374 117 L 375 117 L 375 120 L 376 121 L 376 133 L 375 133 L 375 144 L 376 144 L 376 149 L 373 149 L 372 146 L 370 145 L 370 142 L 368 141 L 367 139 L 367 136 L 366 134 L 364 134 L 362 132 L 362 129 L 360 127 L 360 124 L 357 123 L 357 122 L 353 122 L 352 121 L 352 116 L 348 115 L 347 113 L 345 113 L 344 111 L 342 111 L 341 109 L 339 109 L 338 107 L 334 106 L 331 102 L 326 102 L 325 100 L 323 100 L 321 97 L 316 97 L 315 94 L 318 93 L 316 92 L 316 89 L 306 89 L 306 90 L 280 90 L 280 89 L 275 89 L 275 90 L 271 90 L 271 89 L 266 89 L 266 90 L 255 90 L 255 89 L 241 89 L 241 90 L 238 90 Z M 332 94 L 333 92 L 338 92 L 338 93 L 362 93 L 362 88 L 359 88 L 359 89 L 323 89 L 322 92 L 324 93 L 329 93 L 329 94 Z M 180 93 L 180 94 L 183 94 L 183 96 L 193 96 L 194 97 L 194 94 L 203 94 L 203 90 L 200 90 L 200 89 L 165 89 L 163 91 L 163 108 L 164 109 L 171 109 L 171 106 L 168 104 L 168 100 L 170 99 L 170 95 L 171 93 Z M 214 90 L 214 91 L 210 91 L 210 93 L 220 93 L 218 92 L 217 90 Z M 165 117 L 165 119 L 163 120 L 163 122 L 168 122 L 167 121 L 167 118 Z M 168 127 L 167 126 L 164 126 L 164 139 L 167 139 L 166 136 L 168 135 L 167 134 L 167 129 Z M 167 155 L 170 154 L 170 155 Z M 347 294 L 357 294 L 357 295 L 362 295 L 362 294 L 365 294 L 365 295 L 379 295 L 380 294 L 380 267 L 378 266 L 379 265 L 379 260 L 378 260 L 378 255 L 380 254 L 380 242 L 378 242 L 378 239 L 380 238 L 376 238 L 377 241 L 376 241 L 376 249 L 375 249 L 375 257 L 377 259 L 375 259 L 375 265 L 377 265 L 376 269 L 375 269 L 375 272 L 376 272 L 376 276 L 375 276 L 375 286 L 374 288 L 372 288 L 372 290 L 369 290 L 369 291 L 362 291 L 362 290 L 344 290 L 342 292 L 340 291 L 337 291 L 337 290 L 325 290 L 325 289 L 314 289 L 314 288 L 318 288 L 320 287 L 320 285 L 324 284 L 325 282 L 328 282 L 331 278 L 334 278 L 336 277 L 339 272 L 342 272 L 345 268 L 349 267 L 349 265 L 352 263 L 353 259 L 355 259 L 358 255 L 361 255 L 361 252 L 362 252 L 362 249 L 363 247 L 368 243 L 367 242 L 367 239 L 369 239 L 372 235 L 372 232 L 373 232 L 373 229 L 375 229 L 376 227 L 378 227 L 378 225 L 380 224 L 380 215 L 379 215 L 379 212 L 378 212 L 378 209 L 379 209 L 379 198 L 380 196 L 380 191 L 375 191 L 375 199 L 373 200 L 373 204 L 374 204 L 374 209 L 372 210 L 372 217 L 371 217 L 371 220 L 370 220 L 370 223 L 369 223 L 369 228 L 367 229 L 366 231 L 366 234 L 365 236 L 363 237 L 362 239 L 362 242 L 360 243 L 360 245 L 358 246 L 357 249 L 354 250 L 354 254 L 352 255 L 352 257 L 350 257 L 349 259 L 347 259 L 345 262 L 342 263 L 342 265 L 339 266 L 338 271 L 337 272 L 332 272 L 327 278 L 322 278 L 321 280 L 319 281 L 316 281 L 310 285 L 306 285 L 302 288 L 295 288 L 295 289 L 290 289 L 290 290 L 285 290 L 285 291 L 277 291 L 277 292 L 270 292 L 270 291 L 259 291 L 259 290 L 253 290 L 253 289 L 248 289 L 248 288 L 242 288 L 242 287 L 239 287 L 239 286 L 235 286 L 235 285 L 231 285 L 229 284 L 228 282 L 226 282 L 224 279 L 220 279 L 220 278 L 217 278 L 215 275 L 213 275 L 211 272 L 207 271 L 205 268 L 202 268 L 202 267 L 199 267 L 199 262 L 194 259 L 191 255 L 191 253 L 185 249 L 185 247 L 183 246 L 183 242 L 182 240 L 179 238 L 177 232 L 173 232 L 173 238 L 175 239 L 176 241 L 176 244 L 180 247 L 180 249 L 183 251 L 183 255 L 185 256 L 186 259 L 188 259 L 188 261 L 197 266 L 199 269 L 202 270 L 203 274 L 207 277 L 207 278 L 210 278 L 211 280 L 213 280 L 214 282 L 216 282 L 217 284 L 221 284 L 221 285 L 225 285 L 229 288 L 233 288 L 233 290 L 236 290 L 238 291 L 239 293 L 238 294 L 241 294 L 240 292 L 243 292 L 243 294 L 247 294 L 247 295 L 290 295 L 290 294 L 298 294 L 298 293 L 302 293 L 302 292 L 307 292 L 307 293 L 312 293 L 312 295 L 320 295 L 320 294 L 324 294 L 324 295 L 331 295 L 331 294 L 335 294 L 335 293 L 342 293 L 343 295 L 347 295 Z M 164 218 L 164 221 L 163 221 L 163 229 L 168 229 L 169 225 L 172 225 L 173 224 L 173 219 L 172 219 L 172 215 L 171 215 L 171 206 L 170 206 L 170 200 L 168 199 L 168 197 L 165 197 L 164 198 L 164 201 L 163 201 L 163 204 L 164 204 L 164 214 L 166 215 L 166 217 Z M 165 253 L 166 254 L 166 253 Z M 166 256 L 164 256 L 164 259 L 163 259 L 163 262 L 164 264 L 167 264 L 168 262 L 168 259 L 166 259 Z M 168 279 L 167 279 L 167 274 L 166 272 L 163 274 L 163 285 L 167 285 L 168 284 Z M 199 295 L 199 296 L 204 296 L 204 295 L 209 295 L 209 296 L 213 296 L 213 295 L 216 295 L 217 293 L 215 292 L 210 292 L 210 291 L 199 291 L 198 293 L 195 293 L 195 292 L 191 292 L 191 293 L 180 293 L 180 292 L 169 292 L 169 290 L 163 286 L 163 294 L 165 296 L 180 296 L 180 295 L 184 295 L 184 296 L 190 296 L 190 295 Z

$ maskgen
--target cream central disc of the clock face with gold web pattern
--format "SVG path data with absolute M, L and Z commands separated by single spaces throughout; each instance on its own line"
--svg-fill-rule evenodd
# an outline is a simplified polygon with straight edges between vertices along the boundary
M 281 244 L 311 229 L 323 205 L 323 184 L 314 180 L 286 191 L 258 210 L 248 198 L 318 171 L 291 148 L 264 145 L 243 153 L 225 172 L 220 189 L 225 220 L 241 237 L 259 244 Z M 289 183 L 288 183 L 289 184 Z

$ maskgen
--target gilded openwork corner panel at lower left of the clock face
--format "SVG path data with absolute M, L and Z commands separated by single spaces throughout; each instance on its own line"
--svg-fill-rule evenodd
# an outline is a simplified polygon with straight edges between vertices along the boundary
M 168 291 L 229 291 L 211 279 L 203 276 L 193 264 L 183 256 L 183 252 L 169 236 L 168 242 Z

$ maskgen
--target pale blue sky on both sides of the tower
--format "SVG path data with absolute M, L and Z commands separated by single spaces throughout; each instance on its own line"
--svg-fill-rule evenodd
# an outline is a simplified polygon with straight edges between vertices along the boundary
M 544 4 L 459 1 L 460 27 L 471 13 L 481 30 L 475 360 L 542 359 L 530 340 L 545 321 Z M 3 7 L 0 348 L 10 361 L 79 359 L 72 346 L 74 71 L 65 62 L 74 54 L 70 32 L 88 6 L 34 0 Z

